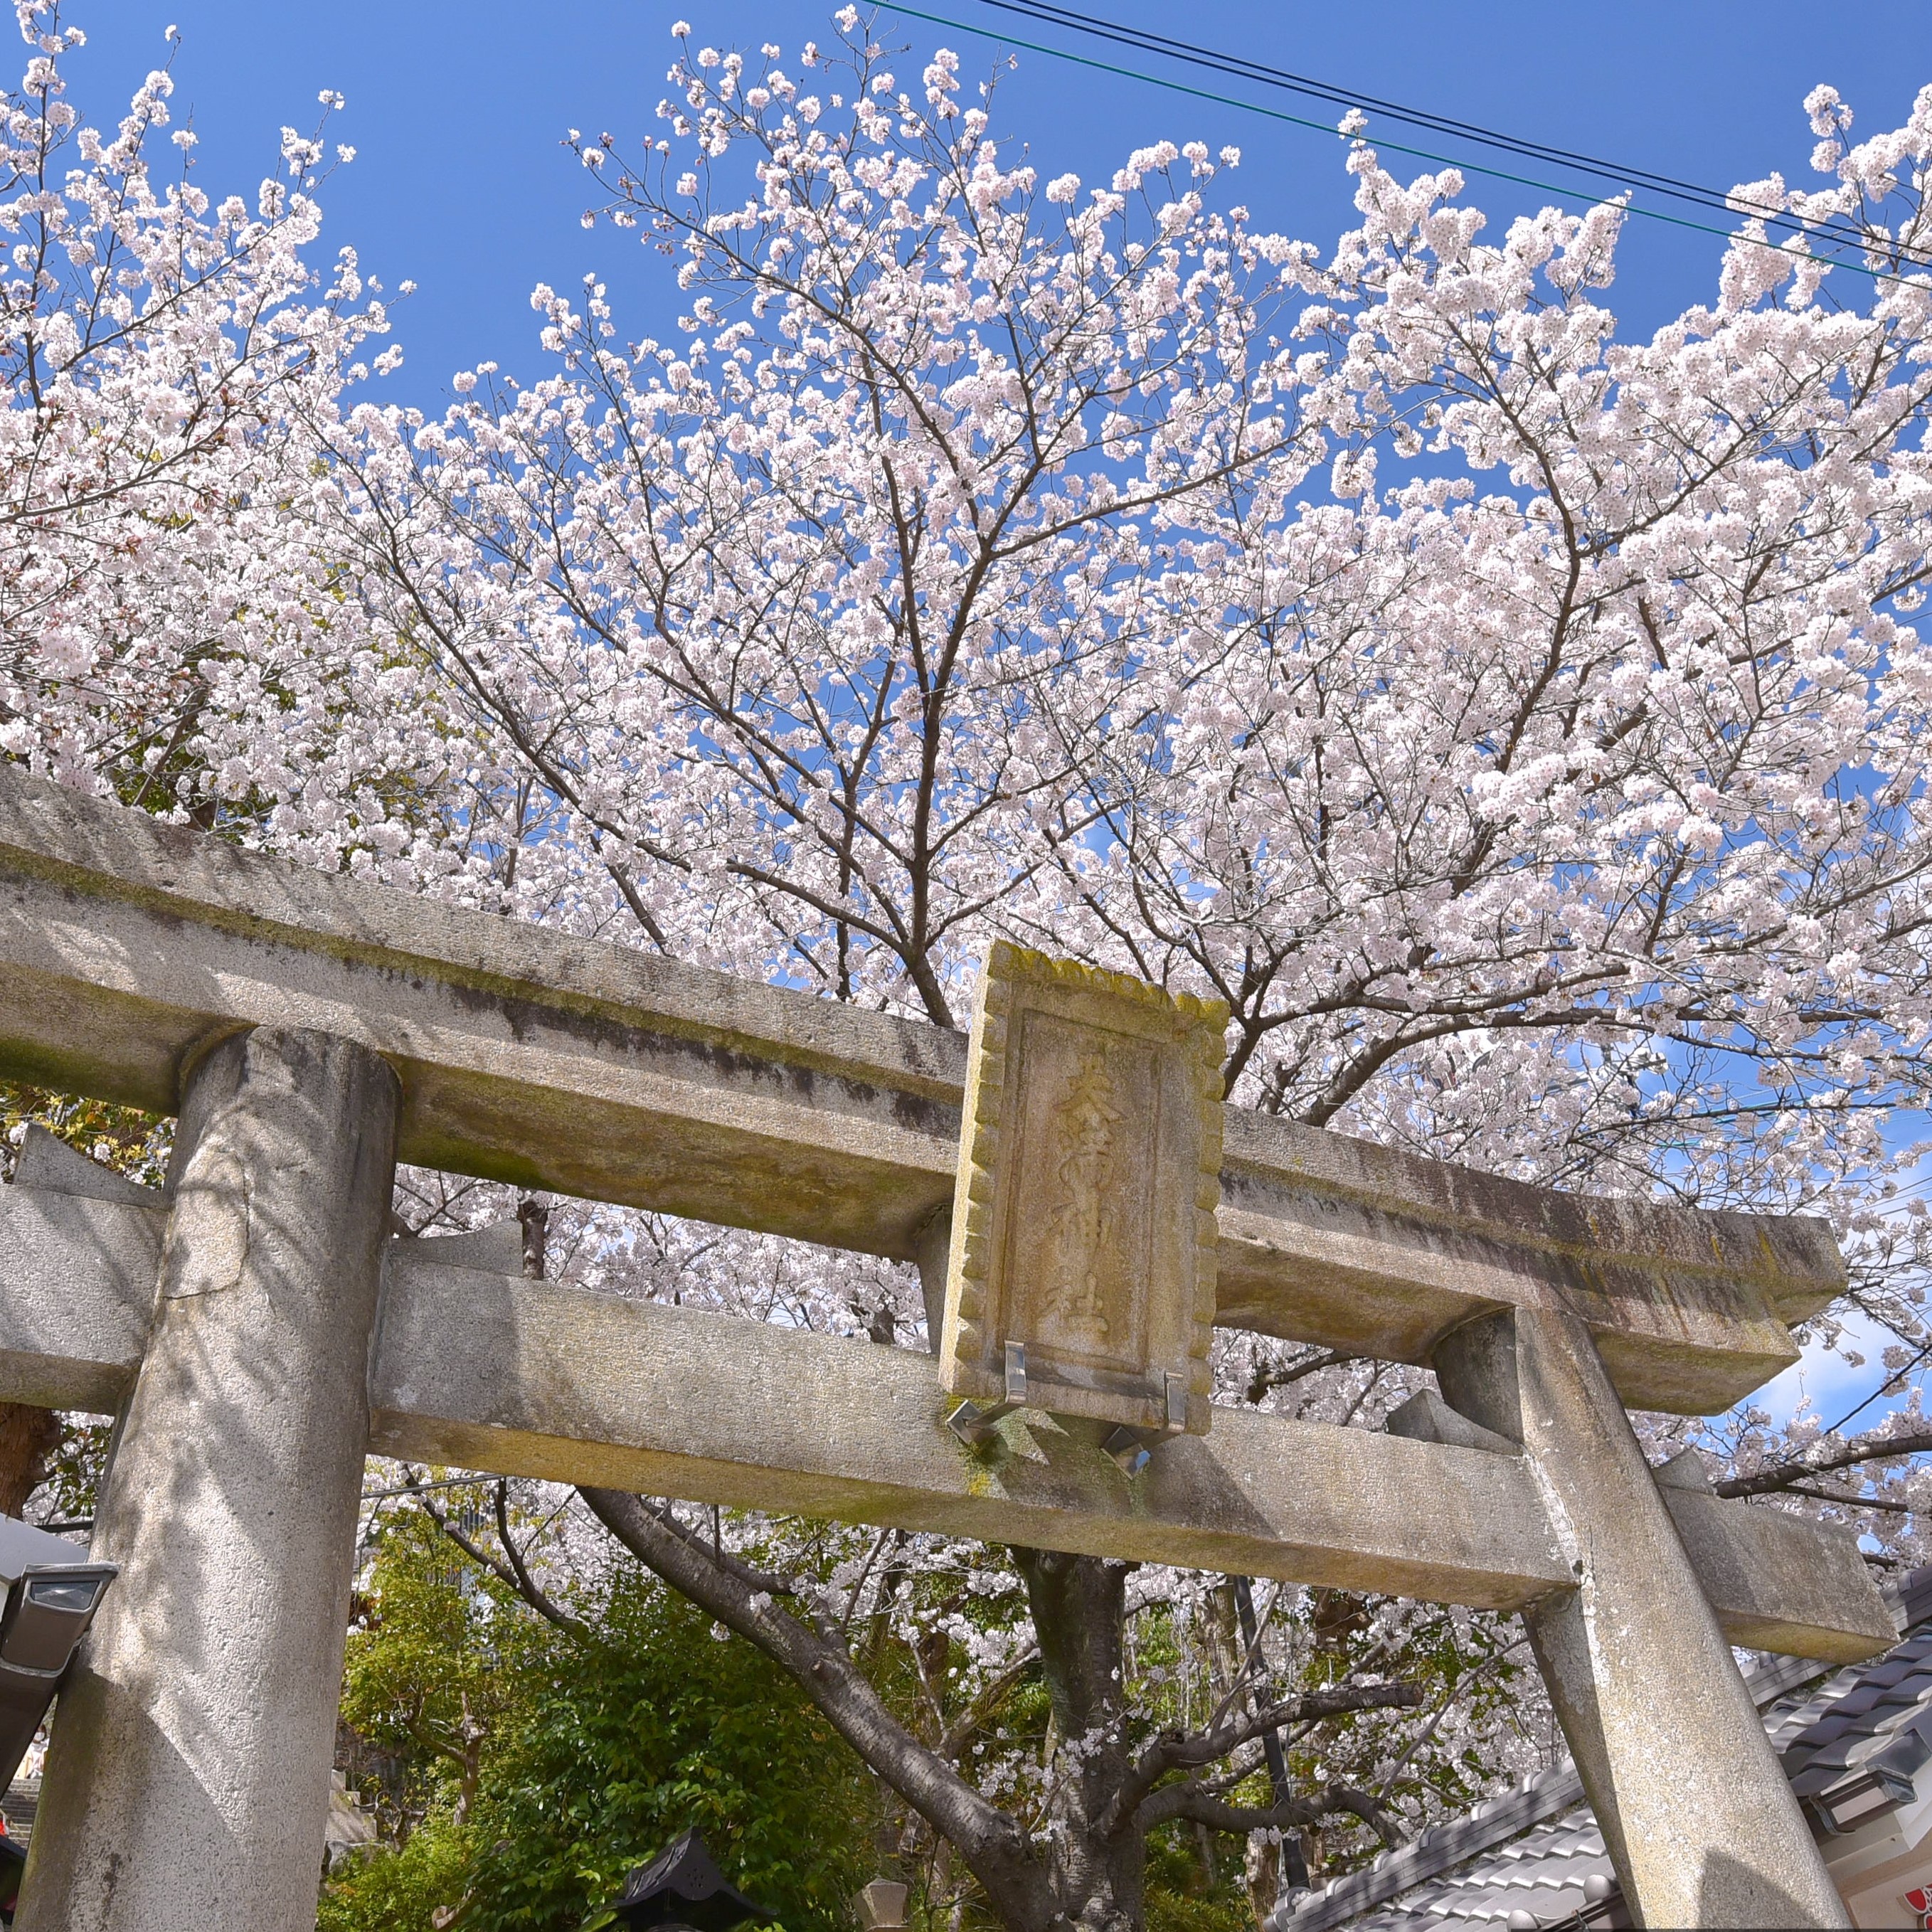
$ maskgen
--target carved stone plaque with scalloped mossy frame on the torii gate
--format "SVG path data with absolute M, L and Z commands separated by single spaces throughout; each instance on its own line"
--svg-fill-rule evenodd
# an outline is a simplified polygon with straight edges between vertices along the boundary
M 1219 1003 L 993 947 L 952 1202 L 949 1391 L 1206 1434 L 1225 1024 Z

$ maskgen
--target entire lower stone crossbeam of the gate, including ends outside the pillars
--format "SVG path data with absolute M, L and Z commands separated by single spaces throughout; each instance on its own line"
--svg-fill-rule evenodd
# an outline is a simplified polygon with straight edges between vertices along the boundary
M 29 1179 L 0 1190 L 0 1252 L 21 1256 L 0 1399 L 112 1410 L 133 1385 L 160 1208 L 56 1192 L 87 1169 L 37 1140 Z M 1515 1455 L 1235 1408 L 1132 1480 L 1097 1430 L 1037 1414 L 976 1453 L 923 1354 L 526 1281 L 493 1246 L 390 1242 L 371 1451 L 1492 1609 L 1573 1582 Z M 1832 1662 L 1893 1642 L 1849 1532 L 1667 1501 L 1735 1642 Z

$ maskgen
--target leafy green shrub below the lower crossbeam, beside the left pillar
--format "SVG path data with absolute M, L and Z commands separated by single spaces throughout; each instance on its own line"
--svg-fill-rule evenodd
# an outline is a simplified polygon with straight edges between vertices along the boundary
M 325 1886 L 323 1932 L 429 1932 L 456 1905 L 458 1932 L 576 1932 L 688 1830 L 786 1932 L 844 1928 L 873 1785 L 798 1687 L 641 1573 L 572 1609 L 589 1634 L 394 1519 L 342 1712 L 390 1766 L 365 1797 L 402 1843 Z

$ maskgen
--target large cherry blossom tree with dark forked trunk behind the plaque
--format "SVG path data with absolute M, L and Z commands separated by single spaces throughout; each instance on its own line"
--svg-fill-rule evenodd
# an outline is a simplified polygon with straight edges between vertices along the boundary
M 1828 185 L 1739 191 L 1808 240 L 1747 218 L 1716 299 L 1623 344 L 1615 207 L 1484 242 L 1453 172 L 1403 185 L 1356 141 L 1360 226 L 1323 253 L 1219 201 L 1231 151 L 1041 184 L 951 54 L 902 85 L 850 10 L 831 54 L 686 46 L 670 79 L 636 156 L 574 145 L 587 220 L 676 263 L 678 340 L 620 340 L 603 282 L 541 288 L 553 373 L 485 365 L 440 419 L 365 406 L 332 442 L 359 495 L 328 549 L 475 732 L 466 891 L 939 1024 L 995 931 L 1213 991 L 1238 1101 L 1835 1213 L 1857 1283 L 1822 1331 L 1857 1310 L 1905 1370 L 1932 97 L 1853 145 L 1814 95 Z M 902 1289 L 885 1333 L 912 1321 Z M 1337 1418 L 1408 1385 L 1223 1352 Z M 1911 1551 L 1915 1418 L 1652 1430 Z M 1119 1569 L 1016 1559 L 1065 1754 L 1028 1814 L 879 1706 L 852 1600 L 589 1501 L 1010 1924 L 1132 1922 L 1157 1814 L 1381 1822 L 1202 1776 L 1252 1776 L 1294 1698 L 1186 1735 L 1130 1710 Z

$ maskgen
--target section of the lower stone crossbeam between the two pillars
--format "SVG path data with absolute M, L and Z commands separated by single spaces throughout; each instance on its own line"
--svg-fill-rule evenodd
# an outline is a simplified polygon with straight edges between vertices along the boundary
M 1014 1414 L 974 1453 L 925 1354 L 440 1267 L 435 1246 L 388 1252 L 383 1455 L 1470 1604 L 1567 1582 L 1513 1459 L 1238 1410 L 1132 1480 L 1105 1424 Z

